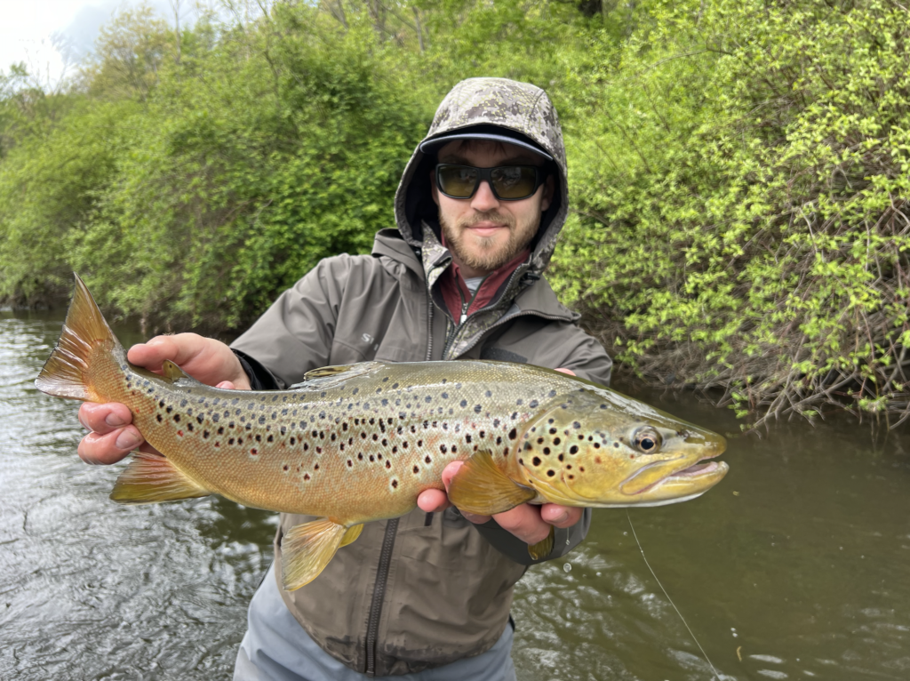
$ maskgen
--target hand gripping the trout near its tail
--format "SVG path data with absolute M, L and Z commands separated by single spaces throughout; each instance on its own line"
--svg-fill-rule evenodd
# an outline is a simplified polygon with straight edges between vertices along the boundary
M 157 336 L 134 345 L 127 359 L 150 371 L 161 373 L 165 360 L 173 361 L 190 376 L 216 388 L 249 390 L 249 379 L 237 355 L 221 341 L 196 333 Z M 120 402 L 85 402 L 79 408 L 79 422 L 90 431 L 79 442 L 79 456 L 86 463 L 116 463 L 133 450 L 155 452 L 133 422 L 133 414 Z

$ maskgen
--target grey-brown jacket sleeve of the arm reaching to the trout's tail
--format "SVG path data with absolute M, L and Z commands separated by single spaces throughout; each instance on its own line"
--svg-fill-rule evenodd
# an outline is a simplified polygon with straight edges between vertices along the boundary
M 352 267 L 349 255 L 321 260 L 231 343 L 251 381 L 267 390 L 283 389 L 329 363 Z

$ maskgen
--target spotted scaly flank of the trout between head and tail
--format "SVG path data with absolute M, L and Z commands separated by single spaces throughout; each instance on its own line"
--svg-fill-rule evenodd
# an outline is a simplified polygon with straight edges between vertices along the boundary
M 334 387 L 315 379 L 314 388 L 238 396 L 169 385 L 127 365 L 96 385 L 98 401 L 125 403 L 147 442 L 212 492 L 360 523 L 410 512 L 420 492 L 442 489 L 448 463 L 481 448 L 508 459 L 523 425 L 558 387 L 572 388 L 547 378 L 532 384 L 509 364 L 375 362 Z

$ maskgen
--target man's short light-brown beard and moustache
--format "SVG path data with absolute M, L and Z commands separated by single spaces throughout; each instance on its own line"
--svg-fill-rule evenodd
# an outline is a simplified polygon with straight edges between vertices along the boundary
M 468 236 L 467 229 L 480 222 L 498 222 L 509 229 L 509 238 L 503 243 L 501 237 Z M 514 259 L 524 249 L 541 226 L 541 214 L 530 223 L 518 224 L 516 219 L 508 214 L 502 215 L 496 211 L 477 213 L 470 219 L 463 219 L 451 224 L 440 210 L 440 228 L 446 239 L 446 247 L 452 255 L 471 269 L 482 269 L 488 272 L 500 269 L 507 262 Z M 471 239 L 471 244 L 466 240 Z

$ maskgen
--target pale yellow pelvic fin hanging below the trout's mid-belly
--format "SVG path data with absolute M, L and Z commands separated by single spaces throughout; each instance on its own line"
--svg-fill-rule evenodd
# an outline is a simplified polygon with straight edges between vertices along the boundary
M 286 591 L 294 591 L 319 576 L 339 550 L 342 542 L 352 535 L 350 544 L 359 533 L 354 525 L 347 528 L 329 518 L 295 525 L 281 538 L 281 578 Z

